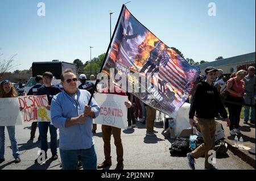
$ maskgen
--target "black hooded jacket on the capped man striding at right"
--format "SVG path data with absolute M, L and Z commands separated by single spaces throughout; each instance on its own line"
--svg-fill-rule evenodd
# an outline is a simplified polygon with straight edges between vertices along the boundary
M 228 117 L 217 89 L 204 81 L 197 84 L 196 92 L 192 96 L 189 119 L 193 119 L 195 113 L 196 117 L 204 119 L 217 117 L 218 113 L 224 118 Z

